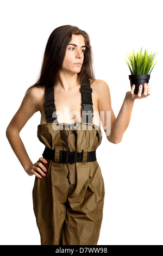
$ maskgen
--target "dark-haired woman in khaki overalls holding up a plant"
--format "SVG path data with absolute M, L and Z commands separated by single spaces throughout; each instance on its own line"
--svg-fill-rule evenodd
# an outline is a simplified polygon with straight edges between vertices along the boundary
M 151 93 L 149 84 L 142 95 L 141 91 L 142 86 L 135 95 L 133 86 L 126 93 L 115 118 L 108 84 L 93 74 L 89 35 L 66 25 L 49 36 L 40 78 L 28 88 L 7 127 L 18 160 L 28 175 L 36 176 L 33 205 L 41 245 L 97 245 L 105 194 L 96 160 L 102 140 L 100 120 L 108 141 L 121 142 L 134 100 Z M 37 136 L 45 150 L 33 164 L 19 133 L 37 111 L 41 113 Z

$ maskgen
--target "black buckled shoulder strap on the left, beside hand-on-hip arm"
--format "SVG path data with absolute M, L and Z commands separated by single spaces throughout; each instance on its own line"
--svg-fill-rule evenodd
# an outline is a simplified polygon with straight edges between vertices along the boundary
M 53 123 L 57 119 L 55 100 L 54 100 L 54 86 L 45 87 L 45 102 L 43 103 L 47 123 Z M 55 112 L 53 114 L 53 112 Z M 53 117 L 52 117 L 53 115 Z

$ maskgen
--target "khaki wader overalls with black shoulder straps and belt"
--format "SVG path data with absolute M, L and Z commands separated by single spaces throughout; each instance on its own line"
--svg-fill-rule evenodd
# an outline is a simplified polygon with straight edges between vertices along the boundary
M 54 87 L 45 88 L 47 124 L 37 126 L 46 146 L 46 176 L 35 177 L 33 206 L 41 245 L 97 245 L 104 205 L 104 181 L 96 161 L 101 129 L 92 124 L 92 88 L 80 87 L 82 124 L 58 123 Z M 68 173 L 67 173 L 68 170 Z

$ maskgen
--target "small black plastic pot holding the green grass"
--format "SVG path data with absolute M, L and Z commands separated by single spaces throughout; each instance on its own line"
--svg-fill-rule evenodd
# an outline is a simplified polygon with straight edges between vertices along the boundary
M 135 84 L 134 94 L 138 93 L 139 86 L 142 84 L 142 93 L 144 92 L 144 83 L 149 83 L 150 75 L 142 74 L 142 75 L 129 75 L 130 85 L 131 87 Z

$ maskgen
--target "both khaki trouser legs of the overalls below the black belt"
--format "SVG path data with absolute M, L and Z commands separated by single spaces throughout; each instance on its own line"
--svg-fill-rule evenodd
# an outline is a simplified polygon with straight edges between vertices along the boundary
M 52 166 L 45 179 L 35 179 L 33 189 L 41 245 L 97 245 L 105 194 L 98 163 L 70 169 L 73 188 L 66 168 Z

